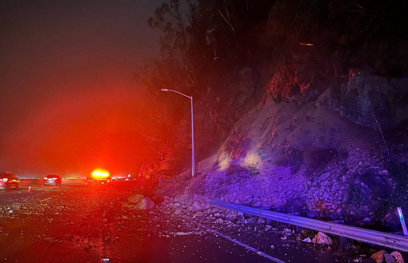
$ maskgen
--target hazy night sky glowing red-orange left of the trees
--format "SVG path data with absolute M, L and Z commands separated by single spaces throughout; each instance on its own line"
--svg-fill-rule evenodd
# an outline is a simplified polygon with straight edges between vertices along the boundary
M 163 0 L 0 1 L 0 171 L 20 177 L 137 173 L 143 89 Z

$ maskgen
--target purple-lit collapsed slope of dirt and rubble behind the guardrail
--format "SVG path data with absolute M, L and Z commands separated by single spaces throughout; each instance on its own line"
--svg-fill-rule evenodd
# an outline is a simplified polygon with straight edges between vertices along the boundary
M 269 94 L 197 165 L 193 180 L 180 175 L 175 192 L 162 193 L 185 198 L 186 207 L 214 198 L 393 228 L 408 197 L 408 142 L 379 128 L 397 130 L 406 120 L 407 83 L 357 71 L 314 101 L 300 93 L 277 103 Z

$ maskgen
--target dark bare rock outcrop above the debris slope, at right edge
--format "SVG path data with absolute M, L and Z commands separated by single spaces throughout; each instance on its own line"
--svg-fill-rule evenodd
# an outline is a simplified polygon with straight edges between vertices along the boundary
M 331 85 L 315 106 L 331 108 L 364 127 L 388 129 L 406 118 L 406 79 L 387 79 L 372 72 L 351 69 L 348 81 Z

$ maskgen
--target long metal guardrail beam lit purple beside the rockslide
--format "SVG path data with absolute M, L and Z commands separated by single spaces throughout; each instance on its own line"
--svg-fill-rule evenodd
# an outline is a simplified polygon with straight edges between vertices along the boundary
M 355 226 L 346 226 L 342 224 L 320 221 L 317 219 L 299 217 L 296 215 L 287 215 L 283 213 L 273 212 L 270 210 L 262 210 L 232 204 L 224 201 L 210 199 L 210 204 L 222 206 L 224 208 L 236 210 L 238 212 L 256 215 L 273 221 L 284 222 L 295 226 L 301 226 L 308 229 L 324 232 L 326 234 L 347 237 L 361 242 L 366 242 L 375 245 L 381 245 L 387 248 L 392 248 L 399 251 L 408 252 L 408 237 L 398 236 L 395 234 L 358 228 Z

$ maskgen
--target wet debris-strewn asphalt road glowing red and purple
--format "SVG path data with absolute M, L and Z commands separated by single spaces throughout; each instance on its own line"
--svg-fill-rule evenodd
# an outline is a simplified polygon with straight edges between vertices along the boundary
M 130 184 L 0 191 L 0 261 L 348 262 L 244 224 L 122 208 Z

